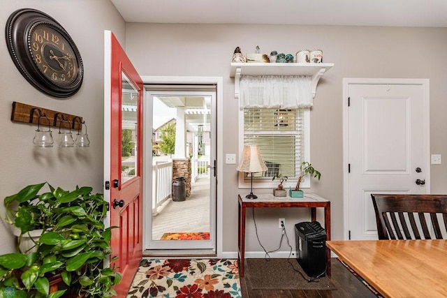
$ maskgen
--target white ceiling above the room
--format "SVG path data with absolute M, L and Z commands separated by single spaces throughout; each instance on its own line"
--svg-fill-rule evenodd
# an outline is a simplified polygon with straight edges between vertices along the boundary
M 447 27 L 447 0 L 111 0 L 126 22 Z

